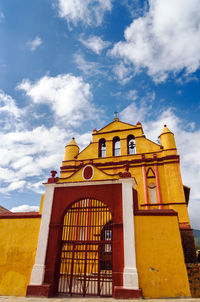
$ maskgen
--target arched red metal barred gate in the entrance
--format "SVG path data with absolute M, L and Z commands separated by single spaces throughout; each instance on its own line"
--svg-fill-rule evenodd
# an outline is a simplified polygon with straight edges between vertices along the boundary
M 112 296 L 111 213 L 96 199 L 82 199 L 64 217 L 58 293 Z

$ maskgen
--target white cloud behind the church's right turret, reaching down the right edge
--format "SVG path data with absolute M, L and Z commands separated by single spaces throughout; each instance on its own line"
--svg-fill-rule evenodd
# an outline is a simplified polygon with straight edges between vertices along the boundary
M 151 105 L 147 104 L 144 99 L 143 102 L 133 102 L 127 106 L 120 113 L 120 118 L 132 124 L 138 120 L 141 121 L 146 137 L 155 142 L 164 124 L 167 124 L 167 127 L 175 134 L 183 184 L 191 188 L 189 213 L 191 213 L 192 225 L 200 229 L 200 129 L 191 130 L 190 123 L 185 124 L 185 121 L 180 119 L 172 108 L 157 111 L 157 118 L 152 113 Z

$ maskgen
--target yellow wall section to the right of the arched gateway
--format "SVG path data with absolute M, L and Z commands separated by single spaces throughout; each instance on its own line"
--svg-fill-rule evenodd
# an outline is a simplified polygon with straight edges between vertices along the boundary
M 135 216 L 135 237 L 143 296 L 191 296 L 177 217 Z

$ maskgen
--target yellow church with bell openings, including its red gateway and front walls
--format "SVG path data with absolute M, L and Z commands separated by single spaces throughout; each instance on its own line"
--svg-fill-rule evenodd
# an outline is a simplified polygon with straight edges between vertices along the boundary
M 174 134 L 115 118 L 65 147 L 38 213 L 0 215 L 0 295 L 191 297 L 196 260 Z M 63 152 L 64 153 L 64 152 Z

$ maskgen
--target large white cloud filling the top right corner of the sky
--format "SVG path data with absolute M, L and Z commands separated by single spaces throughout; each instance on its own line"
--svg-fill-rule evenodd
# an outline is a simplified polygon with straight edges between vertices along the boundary
M 165 81 L 169 73 L 195 72 L 200 66 L 199 0 L 154 0 L 149 6 L 110 54 L 132 63 L 135 72 L 147 69 L 156 82 Z

